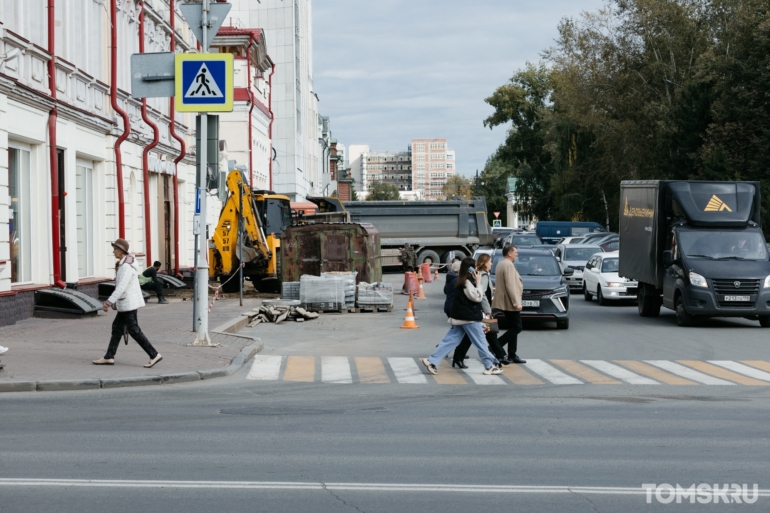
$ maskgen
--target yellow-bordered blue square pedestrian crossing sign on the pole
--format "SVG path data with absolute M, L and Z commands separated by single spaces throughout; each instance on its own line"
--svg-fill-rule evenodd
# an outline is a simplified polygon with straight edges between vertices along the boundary
M 232 112 L 233 56 L 229 53 L 176 54 L 176 110 Z

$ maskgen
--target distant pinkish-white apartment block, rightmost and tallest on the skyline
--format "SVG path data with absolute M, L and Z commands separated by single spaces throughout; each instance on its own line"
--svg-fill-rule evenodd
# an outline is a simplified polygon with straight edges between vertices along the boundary
M 446 139 L 412 139 L 412 189 L 425 199 L 443 199 L 444 184 L 457 171 Z

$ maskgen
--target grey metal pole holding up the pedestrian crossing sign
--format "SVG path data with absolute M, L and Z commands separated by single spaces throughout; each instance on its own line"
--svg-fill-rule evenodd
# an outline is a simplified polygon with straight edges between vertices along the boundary
M 202 52 L 208 53 L 209 51 L 209 44 L 208 44 L 208 13 L 209 13 L 209 2 L 210 0 L 203 0 L 203 3 L 201 4 L 201 30 L 203 32 L 203 46 L 202 46 Z M 209 266 L 206 262 L 206 252 L 208 250 L 208 239 L 206 237 L 206 216 L 208 212 L 206 211 L 206 184 L 208 183 L 207 180 L 207 172 L 208 172 L 208 155 L 206 155 L 208 151 L 208 115 L 205 112 L 201 112 L 201 134 L 200 134 L 200 148 L 198 148 L 198 151 L 200 152 L 200 166 L 198 167 L 198 194 L 200 195 L 200 209 L 201 209 L 201 243 L 198 244 L 198 254 L 197 256 L 197 265 L 196 265 L 196 277 L 197 277 L 197 283 L 196 283 L 196 291 L 195 294 L 197 296 L 197 302 L 200 308 L 198 308 L 198 336 L 195 341 L 195 345 L 212 345 L 211 339 L 209 338 L 209 310 L 208 310 L 208 302 L 209 302 Z

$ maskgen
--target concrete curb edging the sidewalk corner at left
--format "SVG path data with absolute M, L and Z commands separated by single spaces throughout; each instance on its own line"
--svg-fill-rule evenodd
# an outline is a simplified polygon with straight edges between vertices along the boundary
M 45 381 L 0 381 L 0 393 L 2 392 L 67 392 L 73 390 L 98 390 L 100 388 L 125 388 L 141 387 L 147 385 L 173 385 L 176 383 L 189 383 L 204 379 L 223 378 L 232 376 L 246 364 L 255 354 L 262 351 L 262 342 L 255 342 L 241 349 L 241 352 L 233 358 L 230 365 L 225 368 L 206 369 L 191 372 L 179 372 L 176 374 L 161 374 L 160 376 L 134 376 L 127 378 L 109 379 L 73 379 L 73 380 L 45 380 Z

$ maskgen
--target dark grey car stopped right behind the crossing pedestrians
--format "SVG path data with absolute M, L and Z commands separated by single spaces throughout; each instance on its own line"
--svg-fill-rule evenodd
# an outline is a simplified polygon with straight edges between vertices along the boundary
M 490 277 L 495 285 L 495 269 L 503 258 L 502 250 L 495 250 L 492 255 Z M 542 321 L 555 321 L 556 327 L 569 328 L 569 288 L 564 276 L 574 271 L 570 268 L 562 274 L 559 262 L 548 250 L 520 249 L 514 263 L 524 285 L 521 317 Z M 506 329 L 505 316 L 494 312 L 501 329 Z

